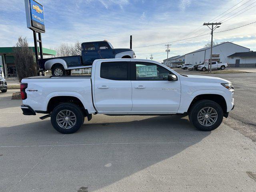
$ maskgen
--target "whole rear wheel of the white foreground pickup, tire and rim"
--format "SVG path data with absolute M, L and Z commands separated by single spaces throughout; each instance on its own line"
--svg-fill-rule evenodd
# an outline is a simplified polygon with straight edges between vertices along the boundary
M 84 123 L 84 113 L 76 104 L 59 104 L 52 111 L 51 123 L 56 131 L 71 134 L 76 132 Z

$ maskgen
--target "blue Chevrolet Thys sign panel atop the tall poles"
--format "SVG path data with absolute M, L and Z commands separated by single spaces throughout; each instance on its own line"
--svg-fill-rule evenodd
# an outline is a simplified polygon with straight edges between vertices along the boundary
M 44 6 L 35 0 L 25 0 L 27 27 L 44 33 Z

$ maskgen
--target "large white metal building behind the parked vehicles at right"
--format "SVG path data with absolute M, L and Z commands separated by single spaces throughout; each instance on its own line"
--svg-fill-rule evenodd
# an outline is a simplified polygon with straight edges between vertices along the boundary
M 235 66 L 236 60 L 228 57 L 237 52 L 249 52 L 250 49 L 231 43 L 224 42 L 212 46 L 212 61 L 225 62 L 230 66 Z M 199 64 L 204 60 L 210 59 L 211 47 L 205 47 L 196 51 L 185 54 L 185 64 Z

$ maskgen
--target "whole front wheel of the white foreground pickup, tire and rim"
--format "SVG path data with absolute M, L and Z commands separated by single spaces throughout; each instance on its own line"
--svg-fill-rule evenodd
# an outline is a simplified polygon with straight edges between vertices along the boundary
M 197 129 L 201 131 L 212 131 L 222 123 L 223 110 L 214 101 L 200 100 L 193 104 L 188 117 Z

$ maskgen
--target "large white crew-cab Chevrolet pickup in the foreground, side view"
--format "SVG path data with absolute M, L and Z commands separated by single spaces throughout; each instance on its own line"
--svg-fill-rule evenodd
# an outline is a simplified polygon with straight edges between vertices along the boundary
M 95 60 L 91 68 L 91 76 L 22 79 L 23 114 L 47 114 L 41 119 L 50 117 L 63 134 L 76 132 L 92 114 L 188 114 L 196 128 L 211 131 L 234 108 L 234 87 L 221 78 L 180 75 L 142 59 Z

